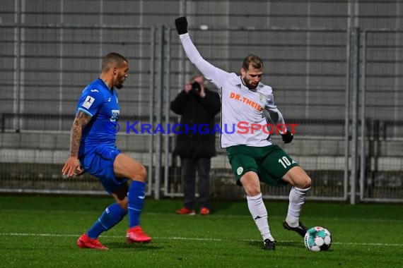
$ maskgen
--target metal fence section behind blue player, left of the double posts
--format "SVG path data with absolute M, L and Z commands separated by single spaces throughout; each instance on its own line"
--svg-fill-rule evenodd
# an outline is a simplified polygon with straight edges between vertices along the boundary
M 76 102 L 98 77 L 103 56 L 117 51 L 134 70 L 119 92 L 122 119 L 153 118 L 155 35 L 155 27 L 0 25 L 2 191 L 104 193 L 90 176 L 66 180 L 60 173 Z M 153 166 L 153 135 L 118 140 Z M 148 174 L 151 194 L 152 169 Z

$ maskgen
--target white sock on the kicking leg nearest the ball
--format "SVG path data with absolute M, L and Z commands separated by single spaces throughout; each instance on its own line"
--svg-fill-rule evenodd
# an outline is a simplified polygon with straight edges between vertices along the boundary
M 287 224 L 291 227 L 299 226 L 299 219 L 300 219 L 300 212 L 305 202 L 305 197 L 308 194 L 310 188 L 307 189 L 300 189 L 293 187 L 290 190 L 289 195 L 289 204 L 288 204 L 288 212 L 286 221 Z

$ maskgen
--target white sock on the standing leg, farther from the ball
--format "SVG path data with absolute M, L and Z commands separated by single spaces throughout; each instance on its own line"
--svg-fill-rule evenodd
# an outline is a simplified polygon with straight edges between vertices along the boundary
M 257 229 L 259 229 L 263 240 L 269 238 L 273 241 L 274 238 L 270 233 L 269 222 L 267 220 L 267 210 L 262 200 L 262 193 L 252 197 L 247 196 L 246 199 L 247 207 L 249 207 L 250 214 L 252 215 L 252 218 L 255 221 Z

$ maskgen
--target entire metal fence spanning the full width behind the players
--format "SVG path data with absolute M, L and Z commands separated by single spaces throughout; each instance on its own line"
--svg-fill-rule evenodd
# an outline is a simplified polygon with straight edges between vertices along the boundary
M 204 58 L 223 70 L 238 73 L 249 53 L 262 57 L 264 83 L 274 87 L 286 121 L 298 123 L 291 145 L 273 140 L 313 178 L 311 199 L 403 201 L 402 32 L 190 32 Z M 108 51 L 124 54 L 130 64 L 129 80 L 119 92 L 121 123 L 176 123 L 170 101 L 196 71 L 175 31 L 164 26 L 0 25 L 0 33 L 2 192 L 104 193 L 95 178 L 63 178 L 60 169 L 78 96 L 98 76 Z M 175 135 L 118 133 L 117 145 L 147 167 L 148 195 L 182 195 L 180 162 L 171 154 Z M 264 185 L 263 193 L 288 198 L 286 188 Z M 223 150 L 212 159 L 211 194 L 243 196 Z

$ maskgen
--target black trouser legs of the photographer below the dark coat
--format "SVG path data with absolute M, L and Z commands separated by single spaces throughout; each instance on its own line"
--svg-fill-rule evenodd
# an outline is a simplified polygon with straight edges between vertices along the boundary
M 180 158 L 182 164 L 184 206 L 194 209 L 196 203 L 196 171 L 199 175 L 199 207 L 209 208 L 211 158 Z

